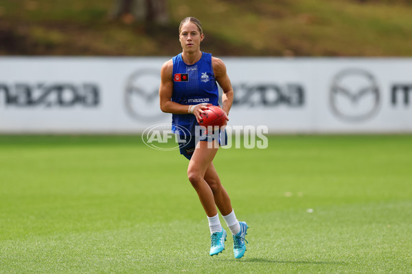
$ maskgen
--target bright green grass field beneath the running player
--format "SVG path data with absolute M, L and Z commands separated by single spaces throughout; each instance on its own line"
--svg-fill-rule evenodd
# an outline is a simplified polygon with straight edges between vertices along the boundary
M 221 149 L 250 227 L 236 260 L 229 237 L 209 257 L 178 152 L 140 136 L 0 136 L 0 273 L 412 273 L 411 155 L 411 135 Z

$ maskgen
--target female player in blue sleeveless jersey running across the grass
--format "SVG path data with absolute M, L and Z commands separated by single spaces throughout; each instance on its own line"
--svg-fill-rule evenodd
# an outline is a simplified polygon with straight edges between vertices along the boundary
M 220 183 L 213 159 L 220 145 L 219 138 L 196 138 L 196 126 L 207 104 L 218 105 L 218 86 L 223 90 L 222 109 L 226 114 L 233 101 L 233 88 L 226 66 L 219 58 L 201 51 L 205 38 L 201 22 L 187 17 L 179 26 L 182 53 L 161 67 L 159 88 L 160 108 L 172 113 L 172 131 L 178 135 L 180 153 L 190 160 L 187 176 L 201 200 L 209 220 L 211 233 L 210 256 L 225 249 L 226 232 L 220 225 L 216 206 L 233 234 L 235 258 L 242 258 L 246 250 L 244 236 L 247 223 L 239 222 L 231 206 L 229 195 Z M 229 119 L 227 119 L 229 120 Z M 186 133 L 189 134 L 186 134 Z M 208 144 L 213 142 L 214 145 Z

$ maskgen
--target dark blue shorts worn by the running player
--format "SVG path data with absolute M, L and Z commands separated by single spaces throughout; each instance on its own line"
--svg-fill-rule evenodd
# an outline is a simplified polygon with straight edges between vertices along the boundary
M 219 130 L 219 145 L 225 146 L 227 145 L 227 134 L 226 130 Z M 194 149 L 196 148 L 196 144 L 198 141 L 206 141 L 211 142 L 216 139 L 216 135 L 206 135 L 206 136 L 184 136 L 179 135 L 177 136 L 177 142 L 179 143 L 179 151 L 180 153 L 185 156 L 187 159 L 191 159 L 194 153 Z

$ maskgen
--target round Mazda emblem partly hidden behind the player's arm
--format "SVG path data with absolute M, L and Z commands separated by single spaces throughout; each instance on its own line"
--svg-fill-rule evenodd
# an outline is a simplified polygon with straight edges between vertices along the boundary
M 124 103 L 128 114 L 139 121 L 158 121 L 167 114 L 159 108 L 160 71 L 141 69 L 126 80 Z

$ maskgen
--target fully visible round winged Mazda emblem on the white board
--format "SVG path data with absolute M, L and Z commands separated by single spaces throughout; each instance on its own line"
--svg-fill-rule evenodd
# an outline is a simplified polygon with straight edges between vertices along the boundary
M 344 121 L 371 119 L 380 105 L 378 83 L 363 69 L 345 69 L 336 74 L 329 95 L 332 112 Z

